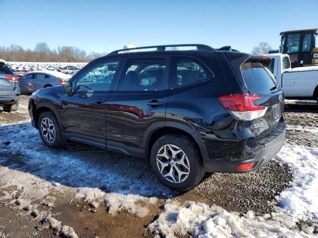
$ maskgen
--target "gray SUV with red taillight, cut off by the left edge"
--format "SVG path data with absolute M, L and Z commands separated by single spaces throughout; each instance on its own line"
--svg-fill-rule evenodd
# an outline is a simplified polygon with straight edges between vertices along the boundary
M 19 106 L 20 88 L 18 77 L 0 60 L 0 107 L 4 112 L 14 112 Z

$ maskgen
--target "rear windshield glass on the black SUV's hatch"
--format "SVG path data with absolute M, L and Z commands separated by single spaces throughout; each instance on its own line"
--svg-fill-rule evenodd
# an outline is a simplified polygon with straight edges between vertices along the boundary
M 240 69 L 248 90 L 269 93 L 275 89 L 276 83 L 260 62 L 243 63 Z

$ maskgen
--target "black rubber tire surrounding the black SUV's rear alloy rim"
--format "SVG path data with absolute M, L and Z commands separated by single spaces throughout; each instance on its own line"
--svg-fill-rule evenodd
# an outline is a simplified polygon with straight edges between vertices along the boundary
M 189 161 L 189 175 L 181 182 L 170 182 L 161 175 L 157 166 L 157 154 L 162 146 L 171 144 L 179 147 L 186 155 Z M 196 186 L 204 176 L 204 166 L 200 158 L 198 149 L 194 143 L 185 135 L 167 134 L 160 137 L 152 147 L 150 156 L 152 169 L 157 178 L 167 187 L 176 191 L 187 191 Z

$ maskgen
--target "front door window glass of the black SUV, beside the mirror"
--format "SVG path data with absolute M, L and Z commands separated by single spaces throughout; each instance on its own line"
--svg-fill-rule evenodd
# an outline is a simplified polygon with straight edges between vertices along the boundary
M 74 91 L 109 91 L 120 60 L 95 64 L 79 75 Z

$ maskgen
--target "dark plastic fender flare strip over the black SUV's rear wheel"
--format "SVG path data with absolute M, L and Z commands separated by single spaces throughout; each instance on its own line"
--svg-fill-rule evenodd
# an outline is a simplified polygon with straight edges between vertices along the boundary
M 187 134 L 189 134 L 194 141 L 196 142 L 196 144 L 199 147 L 201 156 L 203 160 L 208 160 L 209 156 L 208 156 L 208 152 L 207 149 L 205 147 L 205 144 L 201 138 L 201 136 L 191 127 L 179 123 L 179 122 L 173 122 L 173 121 L 161 121 L 161 122 L 156 122 L 154 124 L 152 124 L 151 126 L 148 127 L 148 129 L 146 130 L 145 134 L 144 134 L 144 139 L 143 139 L 143 147 L 145 148 L 145 150 L 147 151 L 148 148 L 148 143 L 149 140 L 151 138 L 151 136 L 153 135 L 153 133 L 158 130 L 161 129 L 163 127 L 172 127 L 172 128 L 177 128 L 180 130 L 183 130 L 184 132 L 186 132 Z

